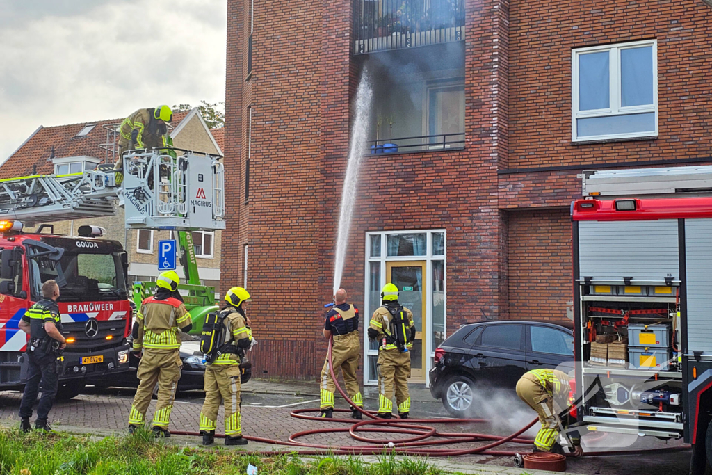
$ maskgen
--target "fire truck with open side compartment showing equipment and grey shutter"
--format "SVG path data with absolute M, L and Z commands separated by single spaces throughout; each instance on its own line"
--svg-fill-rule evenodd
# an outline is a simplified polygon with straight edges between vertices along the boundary
M 576 417 L 712 460 L 712 167 L 582 175 L 571 205 Z

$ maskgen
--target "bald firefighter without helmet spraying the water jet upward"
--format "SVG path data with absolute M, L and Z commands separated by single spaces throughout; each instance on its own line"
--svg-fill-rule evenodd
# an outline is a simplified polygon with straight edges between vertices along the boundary
M 350 399 L 358 407 L 363 407 L 363 397 L 356 377 L 358 360 L 361 356 L 358 308 L 346 303 L 346 298 L 346 291 L 343 288 L 336 291 L 334 306 L 326 314 L 323 334 L 324 338 L 333 338 L 331 362 L 334 365 L 334 375 L 339 377 L 339 371 L 343 373 L 344 385 Z M 324 362 L 320 381 L 321 417 L 333 417 L 336 387 L 329 370 L 329 360 Z M 351 417 L 361 419 L 361 412 L 353 408 Z

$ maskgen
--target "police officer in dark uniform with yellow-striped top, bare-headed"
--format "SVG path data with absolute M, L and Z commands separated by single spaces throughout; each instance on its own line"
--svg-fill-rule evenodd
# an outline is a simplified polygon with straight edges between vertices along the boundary
M 63 370 L 61 351 L 67 340 L 62 336 L 62 323 L 57 306 L 59 286 L 56 281 L 46 281 L 42 286 L 43 299 L 29 308 L 19 323 L 19 328 L 30 334 L 27 344 L 28 372 L 25 391 L 20 404 L 22 430 L 30 430 L 32 405 L 37 400 L 40 382 L 42 397 L 37 407 L 35 429 L 51 431 L 47 417 L 57 394 L 59 375 Z

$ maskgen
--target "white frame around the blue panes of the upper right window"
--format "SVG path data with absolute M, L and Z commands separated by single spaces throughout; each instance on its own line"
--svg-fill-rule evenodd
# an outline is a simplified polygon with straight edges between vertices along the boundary
M 629 48 L 652 46 L 653 54 L 653 104 L 622 107 L 621 105 L 621 68 L 620 51 Z M 579 108 L 579 56 L 596 51 L 609 51 L 609 107 L 605 109 L 580 111 Z M 657 40 L 632 41 L 614 45 L 589 46 L 571 51 L 571 137 L 572 142 L 598 142 L 639 137 L 657 137 L 658 135 L 658 42 Z M 622 134 L 590 135 L 578 137 L 577 119 L 611 117 L 634 113 L 655 113 L 655 130 L 646 132 L 627 132 Z

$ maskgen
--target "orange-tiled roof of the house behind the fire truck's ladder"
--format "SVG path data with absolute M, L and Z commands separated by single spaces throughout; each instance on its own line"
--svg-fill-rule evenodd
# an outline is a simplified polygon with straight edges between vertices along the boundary
M 177 125 L 190 113 L 189 110 L 174 113 L 171 125 Z M 2 165 L 0 179 L 23 177 L 29 174 L 51 174 L 54 172 L 53 158 L 79 157 L 88 155 L 111 161 L 111 154 L 100 145 L 118 140 L 111 132 L 112 126 L 120 125 L 123 118 L 97 120 L 53 127 L 40 126 L 33 135 L 16 150 Z M 90 130 L 85 127 L 94 125 Z M 111 127 L 110 127 L 111 126 Z M 78 136 L 80 132 L 85 132 Z

